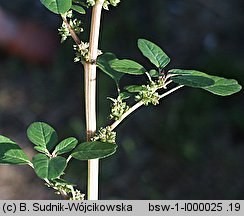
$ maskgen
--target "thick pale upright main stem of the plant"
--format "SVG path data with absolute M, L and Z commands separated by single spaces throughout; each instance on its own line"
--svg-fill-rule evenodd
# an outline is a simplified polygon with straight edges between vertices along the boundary
M 92 20 L 89 40 L 90 61 L 84 64 L 85 68 L 85 111 L 87 141 L 96 132 L 96 59 L 100 31 L 101 12 L 104 0 L 97 0 L 92 8 Z M 98 199 L 99 160 L 88 161 L 88 200 Z

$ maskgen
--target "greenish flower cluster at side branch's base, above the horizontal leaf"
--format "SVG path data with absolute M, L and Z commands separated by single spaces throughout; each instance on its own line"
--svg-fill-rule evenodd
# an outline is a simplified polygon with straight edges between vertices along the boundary
M 105 128 L 100 128 L 96 135 L 92 138 L 92 141 L 115 143 L 116 132 L 112 131 L 109 126 Z

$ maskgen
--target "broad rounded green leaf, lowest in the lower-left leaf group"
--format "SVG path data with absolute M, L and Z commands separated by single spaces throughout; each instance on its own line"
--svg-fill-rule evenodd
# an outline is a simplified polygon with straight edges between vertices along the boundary
M 66 168 L 66 159 L 60 156 L 49 158 L 44 154 L 33 157 L 32 163 L 38 177 L 42 179 L 55 179 L 63 174 Z

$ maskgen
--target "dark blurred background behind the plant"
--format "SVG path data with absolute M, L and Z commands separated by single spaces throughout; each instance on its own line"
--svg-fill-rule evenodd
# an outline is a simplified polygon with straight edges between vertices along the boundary
M 82 16 L 84 29 L 89 17 Z M 146 38 L 171 57 L 169 68 L 197 69 L 244 84 L 242 0 L 123 1 L 103 14 L 100 49 L 148 66 Z M 26 128 L 51 124 L 61 138 L 85 137 L 83 71 L 72 41 L 60 45 L 58 16 L 39 0 L 0 0 L 0 134 L 30 157 Z M 87 40 L 84 33 L 81 36 Z M 122 84 L 133 83 L 131 77 Z M 98 127 L 107 125 L 113 81 L 98 72 Z M 101 199 L 244 199 L 243 91 L 218 97 L 185 88 L 142 108 L 117 130 L 118 151 L 101 161 Z M 86 192 L 86 163 L 66 179 Z M 27 166 L 0 166 L 0 199 L 60 199 Z

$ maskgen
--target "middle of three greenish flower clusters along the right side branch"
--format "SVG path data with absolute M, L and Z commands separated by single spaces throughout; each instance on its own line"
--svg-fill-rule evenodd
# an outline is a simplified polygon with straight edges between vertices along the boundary
M 111 114 L 109 116 L 110 119 L 119 120 L 121 116 L 130 108 L 126 104 L 126 102 L 123 102 L 120 96 L 117 99 L 108 99 L 110 99 L 113 102 L 111 107 Z

